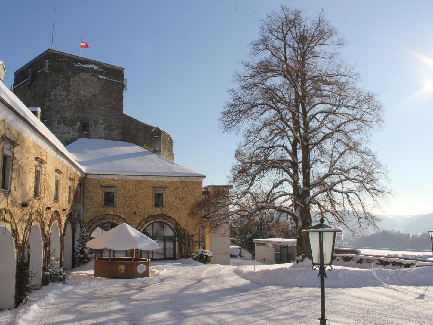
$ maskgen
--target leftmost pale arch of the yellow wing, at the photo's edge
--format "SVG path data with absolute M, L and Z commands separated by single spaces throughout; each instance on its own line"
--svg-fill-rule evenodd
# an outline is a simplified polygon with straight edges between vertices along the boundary
M 0 309 L 15 305 L 15 246 L 9 229 L 0 225 Z

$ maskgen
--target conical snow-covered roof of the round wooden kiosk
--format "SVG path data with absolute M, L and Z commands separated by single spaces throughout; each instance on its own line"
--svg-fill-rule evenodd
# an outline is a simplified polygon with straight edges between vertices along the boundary
M 108 248 L 110 250 L 156 250 L 158 244 L 132 228 L 129 224 L 119 224 L 98 237 L 89 240 L 86 247 L 93 249 Z

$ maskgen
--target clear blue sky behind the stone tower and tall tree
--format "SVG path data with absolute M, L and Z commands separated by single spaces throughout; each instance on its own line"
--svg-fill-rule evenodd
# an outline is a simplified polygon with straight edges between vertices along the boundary
M 370 145 L 398 195 L 386 214 L 433 212 L 432 1 L 66 1 L 56 2 L 53 49 L 125 68 L 124 111 L 161 127 L 176 162 L 227 182 L 240 139 L 219 130 L 233 72 L 257 37 L 259 20 L 280 3 L 315 15 L 322 8 L 348 41 L 360 87 L 380 95 L 385 127 Z M 51 46 L 53 1 L 5 0 L 0 60 L 4 83 Z M 430 227 L 426 225 L 426 227 Z

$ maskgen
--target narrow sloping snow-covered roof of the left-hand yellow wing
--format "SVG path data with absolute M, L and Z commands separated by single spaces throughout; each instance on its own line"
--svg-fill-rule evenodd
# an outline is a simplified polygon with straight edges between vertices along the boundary
M 57 137 L 51 133 L 50 130 L 33 114 L 18 97 L 10 91 L 3 82 L 0 82 L 0 97 L 9 104 L 19 115 L 21 115 L 25 120 L 27 120 L 36 130 L 38 130 L 42 136 L 52 143 L 58 150 L 61 151 L 71 162 L 74 163 L 81 171 L 84 171 L 83 167 L 80 166 L 71 154 L 66 150 L 65 146 L 57 139 Z M 34 132 L 34 131 L 33 131 Z

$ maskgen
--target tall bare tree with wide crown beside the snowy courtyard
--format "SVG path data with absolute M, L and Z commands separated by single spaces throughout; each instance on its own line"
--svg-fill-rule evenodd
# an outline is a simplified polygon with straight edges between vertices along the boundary
M 288 214 L 301 261 L 309 255 L 301 231 L 312 215 L 352 229 L 377 221 L 369 211 L 389 193 L 386 169 L 365 144 L 381 126 L 382 107 L 355 86 L 358 74 L 340 57 L 345 41 L 323 13 L 304 18 L 281 6 L 262 20 L 259 35 L 220 118 L 224 131 L 244 139 L 230 211 Z

